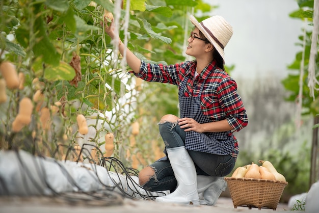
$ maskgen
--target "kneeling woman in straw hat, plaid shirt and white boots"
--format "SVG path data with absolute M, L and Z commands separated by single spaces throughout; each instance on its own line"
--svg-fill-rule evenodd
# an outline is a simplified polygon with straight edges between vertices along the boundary
M 171 192 L 156 202 L 215 205 L 238 155 L 232 132 L 247 126 L 248 118 L 236 82 L 224 70 L 232 27 L 221 16 L 198 22 L 191 15 L 190 20 L 195 26 L 186 54 L 194 61 L 147 64 L 126 49 L 127 64 L 137 77 L 176 85 L 179 94 L 180 118 L 165 115 L 159 121 L 166 157 L 142 169 L 139 181 L 146 190 Z M 119 39 L 112 24 L 105 31 Z M 125 48 L 120 41 L 122 55 Z

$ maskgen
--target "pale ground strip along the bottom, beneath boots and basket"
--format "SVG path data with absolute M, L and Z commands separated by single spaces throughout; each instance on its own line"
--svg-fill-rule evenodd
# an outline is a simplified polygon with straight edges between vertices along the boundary
M 137 213 L 137 212 L 282 212 L 290 211 L 287 205 L 279 203 L 276 211 L 269 208 L 251 208 L 238 206 L 234 208 L 231 198 L 220 197 L 215 206 L 181 206 L 176 204 L 163 204 L 156 203 L 153 200 L 134 200 L 130 198 L 120 199 L 119 202 L 109 203 L 108 205 L 103 202 L 76 202 L 69 203 L 63 199 L 52 197 L 0 197 L 0 212 L 1 213 L 82 213 L 82 212 L 116 212 L 116 213 Z M 294 211 L 299 212 L 299 211 Z M 301 212 L 301 211 L 300 211 Z

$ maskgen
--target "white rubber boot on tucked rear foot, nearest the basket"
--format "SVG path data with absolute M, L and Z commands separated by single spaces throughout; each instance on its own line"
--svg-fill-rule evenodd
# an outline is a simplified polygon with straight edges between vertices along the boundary
M 197 175 L 198 194 L 203 194 L 203 199 L 199 200 L 202 205 L 215 205 L 226 187 L 227 182 L 224 177 Z

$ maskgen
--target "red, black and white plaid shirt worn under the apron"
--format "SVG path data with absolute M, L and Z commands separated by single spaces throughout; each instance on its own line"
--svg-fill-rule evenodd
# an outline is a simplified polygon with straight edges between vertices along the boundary
M 203 71 L 194 77 L 196 61 L 187 61 L 174 65 L 147 64 L 141 61 L 140 73 L 135 74 L 148 82 L 168 83 L 179 86 L 183 79 L 190 75 L 187 88 L 183 92 L 185 97 L 197 96 L 201 93 L 201 110 L 212 121 L 227 119 L 235 131 L 239 131 L 248 124 L 246 110 L 242 99 L 237 93 L 237 84 L 224 70 L 216 66 L 216 61 L 208 64 Z M 235 140 L 232 156 L 238 155 L 238 143 Z

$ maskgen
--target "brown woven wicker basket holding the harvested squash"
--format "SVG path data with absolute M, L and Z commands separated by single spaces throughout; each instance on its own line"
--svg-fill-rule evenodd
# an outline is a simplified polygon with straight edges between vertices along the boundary
M 288 182 L 253 178 L 225 177 L 234 205 L 276 210 Z

